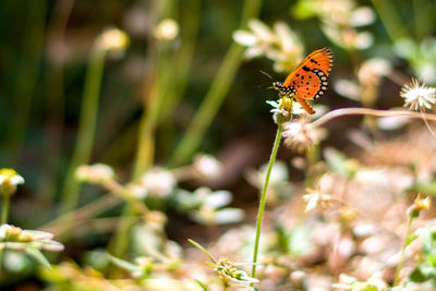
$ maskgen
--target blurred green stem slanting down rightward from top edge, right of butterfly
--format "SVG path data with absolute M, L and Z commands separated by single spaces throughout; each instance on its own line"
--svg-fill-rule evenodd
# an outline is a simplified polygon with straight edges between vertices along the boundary
M 403 21 L 398 15 L 396 7 L 389 0 L 372 0 L 378 16 L 392 41 L 411 38 Z

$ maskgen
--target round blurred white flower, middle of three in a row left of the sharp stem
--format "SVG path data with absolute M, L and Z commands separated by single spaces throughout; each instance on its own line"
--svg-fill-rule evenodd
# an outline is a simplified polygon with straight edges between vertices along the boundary
M 147 193 L 158 196 L 167 196 L 175 186 L 174 175 L 167 170 L 155 168 L 141 178 L 141 183 Z

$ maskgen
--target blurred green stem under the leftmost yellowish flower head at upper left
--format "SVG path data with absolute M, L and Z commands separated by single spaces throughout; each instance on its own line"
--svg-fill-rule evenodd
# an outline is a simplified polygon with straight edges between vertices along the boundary
M 77 206 L 81 184 L 75 179 L 75 171 L 78 166 L 89 162 L 97 124 L 98 99 L 107 52 L 108 51 L 101 48 L 98 43 L 95 43 L 89 57 L 77 141 L 63 185 L 61 214 L 72 210 Z

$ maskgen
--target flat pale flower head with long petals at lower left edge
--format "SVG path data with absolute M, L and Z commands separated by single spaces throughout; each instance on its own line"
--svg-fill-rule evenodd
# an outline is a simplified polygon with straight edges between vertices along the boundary
M 10 225 L 0 226 L 0 250 L 25 251 L 28 247 L 49 252 L 63 251 L 63 245 L 55 241 L 50 232 L 23 230 Z

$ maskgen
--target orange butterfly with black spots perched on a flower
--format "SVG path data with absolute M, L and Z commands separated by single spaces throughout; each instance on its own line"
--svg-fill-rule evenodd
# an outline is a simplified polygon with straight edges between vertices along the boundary
M 272 87 L 280 96 L 295 99 L 307 113 L 313 114 L 315 110 L 306 100 L 324 95 L 332 62 L 334 53 L 329 48 L 315 50 L 288 75 L 283 83 L 274 82 Z

